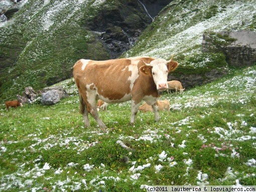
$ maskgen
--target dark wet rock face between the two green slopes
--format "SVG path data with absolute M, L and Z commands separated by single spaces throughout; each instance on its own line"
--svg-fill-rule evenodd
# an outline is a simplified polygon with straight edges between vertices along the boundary
M 113 7 L 103 8 L 97 17 L 86 21 L 85 29 L 95 33 L 109 58 L 115 59 L 136 43 L 152 22 L 150 14 L 155 17 L 170 2 L 123 0 Z

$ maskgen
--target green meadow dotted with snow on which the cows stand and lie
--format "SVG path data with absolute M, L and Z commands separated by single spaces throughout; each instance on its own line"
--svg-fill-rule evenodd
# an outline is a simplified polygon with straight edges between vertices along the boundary
M 91 127 L 84 128 L 73 90 L 73 96 L 52 106 L 26 104 L 8 112 L 2 106 L 0 189 L 145 191 L 145 184 L 232 185 L 236 179 L 253 185 L 256 165 L 247 163 L 256 154 L 255 71 L 255 66 L 232 70 L 182 95 L 164 93 L 161 100 L 168 99 L 171 110 L 161 112 L 160 122 L 153 113 L 140 112 L 130 125 L 130 102 L 109 104 L 99 113 L 105 130 L 91 116 Z M 72 82 L 65 82 L 67 89 Z M 159 160 L 163 151 L 167 156 Z M 157 171 L 157 165 L 163 167 Z M 199 180 L 198 174 L 207 179 Z

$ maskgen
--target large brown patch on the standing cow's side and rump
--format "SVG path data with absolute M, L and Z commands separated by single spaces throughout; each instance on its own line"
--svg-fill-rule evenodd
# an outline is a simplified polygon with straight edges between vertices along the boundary
M 86 85 L 93 84 L 90 86 L 91 90 L 95 87 L 104 98 L 119 100 L 131 92 L 130 81 L 123 83 L 123 79 L 128 79 L 132 75 L 129 71 L 130 64 L 129 59 L 89 61 L 82 71 L 83 63 L 79 60 L 73 67 L 73 76 L 76 77 L 76 82 L 78 79 L 84 79 L 77 83 L 79 90 L 84 89 Z M 116 71 L 119 72 L 118 75 Z

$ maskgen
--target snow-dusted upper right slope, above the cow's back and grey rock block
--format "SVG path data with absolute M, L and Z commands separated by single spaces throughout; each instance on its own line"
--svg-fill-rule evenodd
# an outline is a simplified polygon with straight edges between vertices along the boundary
M 192 57 L 200 53 L 205 31 L 255 31 L 255 10 L 254 0 L 173 1 L 144 31 L 137 45 L 124 56 L 147 55 L 169 59 L 174 54 Z M 180 62 L 185 65 L 183 60 Z M 200 67 L 207 65 L 207 62 L 189 65 Z

